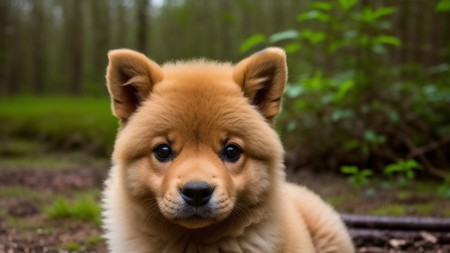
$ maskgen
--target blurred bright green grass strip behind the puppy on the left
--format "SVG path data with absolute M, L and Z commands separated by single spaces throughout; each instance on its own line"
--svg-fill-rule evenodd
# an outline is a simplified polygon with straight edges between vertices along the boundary
M 0 121 L 1 139 L 36 139 L 102 154 L 111 151 L 117 130 L 107 97 L 0 98 Z

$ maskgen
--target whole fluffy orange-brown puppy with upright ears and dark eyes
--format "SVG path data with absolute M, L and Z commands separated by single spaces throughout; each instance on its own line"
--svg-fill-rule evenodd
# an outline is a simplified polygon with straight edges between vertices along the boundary
M 109 53 L 121 122 L 103 192 L 111 252 L 354 251 L 337 213 L 284 179 L 272 125 L 286 73 L 279 48 L 235 66 Z

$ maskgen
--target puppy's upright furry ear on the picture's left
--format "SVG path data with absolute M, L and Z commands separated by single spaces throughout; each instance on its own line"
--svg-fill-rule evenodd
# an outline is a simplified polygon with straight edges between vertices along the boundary
M 133 50 L 112 50 L 108 58 L 106 81 L 112 111 L 121 123 L 126 123 L 163 74 L 158 64 Z

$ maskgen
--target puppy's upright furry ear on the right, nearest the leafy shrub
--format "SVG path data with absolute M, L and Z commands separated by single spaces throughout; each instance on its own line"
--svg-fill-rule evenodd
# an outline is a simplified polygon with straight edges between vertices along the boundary
M 287 80 L 284 50 L 270 47 L 245 58 L 235 66 L 233 79 L 272 125 L 280 111 Z

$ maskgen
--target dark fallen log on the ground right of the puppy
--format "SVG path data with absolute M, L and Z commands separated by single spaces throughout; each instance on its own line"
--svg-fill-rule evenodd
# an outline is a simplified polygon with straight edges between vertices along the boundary
M 341 217 L 350 229 L 374 228 L 404 231 L 440 231 L 450 233 L 450 218 L 392 217 L 354 214 L 342 214 Z

